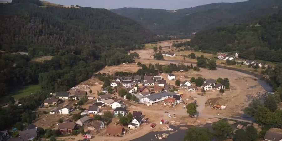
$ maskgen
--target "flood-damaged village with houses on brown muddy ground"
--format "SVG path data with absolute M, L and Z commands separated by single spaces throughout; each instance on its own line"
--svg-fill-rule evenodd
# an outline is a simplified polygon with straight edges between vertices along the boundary
M 141 64 L 171 63 L 153 60 L 142 51 L 138 52 L 140 56 L 150 61 L 136 59 Z M 176 57 L 174 52 L 163 55 Z M 221 68 L 179 70 L 155 76 L 136 75 L 138 69 L 141 67 L 137 63 L 106 67 L 69 91 L 50 93 L 51 97 L 37 110 L 39 118 L 30 128 L 20 131 L 20 137 L 9 140 L 35 138 L 37 127 L 59 130 L 57 139 L 63 140 L 132 140 L 152 131 L 174 133 L 177 131 L 171 125 L 203 126 L 218 121 L 217 117 L 239 116 L 250 102 L 248 97 L 259 97 L 265 92 L 254 76 Z M 128 76 L 117 75 L 122 71 L 128 72 Z M 105 82 L 99 76 L 112 78 L 109 85 L 103 87 Z M 200 85 L 195 82 L 199 77 L 203 79 Z M 187 113 L 188 103 L 196 104 L 195 115 Z M 165 139 L 169 135 L 160 134 L 156 138 Z

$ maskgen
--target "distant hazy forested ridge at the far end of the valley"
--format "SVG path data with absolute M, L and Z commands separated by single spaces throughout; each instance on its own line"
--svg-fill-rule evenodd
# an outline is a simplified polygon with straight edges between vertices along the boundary
M 217 26 L 250 22 L 276 13 L 281 0 L 249 0 L 237 3 L 212 3 L 178 10 L 120 8 L 112 12 L 131 18 L 155 34 L 191 36 L 192 32 Z

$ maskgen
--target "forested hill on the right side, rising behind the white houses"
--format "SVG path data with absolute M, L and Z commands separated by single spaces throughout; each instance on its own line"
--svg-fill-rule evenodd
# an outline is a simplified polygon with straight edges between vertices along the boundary
M 239 51 L 246 59 L 282 61 L 282 10 L 251 24 L 200 31 L 191 39 L 202 51 Z

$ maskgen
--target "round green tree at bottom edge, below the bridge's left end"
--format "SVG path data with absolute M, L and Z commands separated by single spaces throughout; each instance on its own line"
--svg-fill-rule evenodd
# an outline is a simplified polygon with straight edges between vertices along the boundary
M 225 140 L 232 134 L 233 128 L 227 121 L 220 120 L 217 123 L 212 124 L 213 135 L 219 140 Z

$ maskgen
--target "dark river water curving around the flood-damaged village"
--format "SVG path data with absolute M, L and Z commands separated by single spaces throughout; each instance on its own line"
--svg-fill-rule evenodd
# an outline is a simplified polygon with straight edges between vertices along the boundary
M 165 60 L 167 62 L 171 62 L 171 63 L 183 63 L 185 65 L 189 65 L 189 64 L 196 64 L 194 62 L 188 62 L 188 63 L 184 63 L 182 61 L 178 61 L 178 60 Z M 253 72 L 250 72 L 250 71 L 247 71 L 247 70 L 241 70 L 241 69 L 237 69 L 237 68 L 231 68 L 231 67 L 227 67 L 227 66 L 222 66 L 222 65 L 217 65 L 218 68 L 222 68 L 222 69 L 227 69 L 227 70 L 234 70 L 234 71 L 238 71 L 238 72 L 241 72 L 241 73 L 245 73 L 245 74 L 248 74 L 248 75 L 252 75 L 252 76 L 255 76 L 257 77 L 257 81 L 259 83 L 260 86 L 262 86 L 264 88 L 265 91 L 267 92 L 273 92 L 272 90 L 272 87 L 269 85 L 269 83 L 267 83 L 266 81 L 264 81 L 262 79 L 262 77 L 258 74 L 255 74 Z M 246 119 L 246 115 L 241 115 L 242 119 Z M 238 118 L 238 117 L 236 117 Z M 251 118 L 248 118 L 248 120 L 252 120 Z M 238 123 L 235 123 L 233 124 L 234 128 L 238 125 Z M 175 127 L 175 126 L 172 126 L 172 128 L 175 130 L 177 130 L 177 132 L 175 133 L 172 133 L 168 136 L 168 138 L 164 139 L 165 141 L 182 141 L 184 136 L 185 136 L 185 130 L 182 130 L 180 129 L 180 127 L 192 127 L 192 126 L 188 126 L 188 125 L 182 125 L 182 126 L 178 126 L 178 127 Z M 206 124 L 204 125 L 205 128 L 211 128 L 211 124 Z M 153 141 L 153 140 L 158 140 L 155 135 L 159 134 L 161 135 L 162 133 L 169 133 L 171 131 L 159 131 L 159 132 L 150 132 L 142 137 L 139 137 L 139 138 L 136 138 L 136 139 L 133 139 L 131 141 Z

